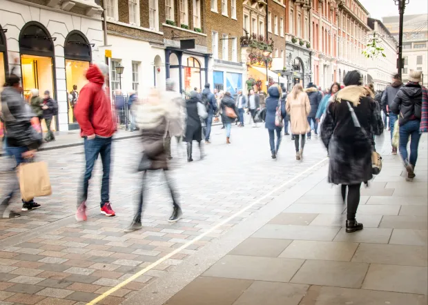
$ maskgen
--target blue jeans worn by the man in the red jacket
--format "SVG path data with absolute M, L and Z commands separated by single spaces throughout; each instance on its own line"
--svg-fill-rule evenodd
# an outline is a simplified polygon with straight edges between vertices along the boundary
M 88 140 L 87 138 L 84 139 L 86 167 L 83 183 L 81 184 L 81 189 L 78 195 L 77 205 L 88 199 L 89 180 L 92 176 L 92 171 L 94 169 L 95 161 L 97 161 L 98 159 L 98 155 L 101 156 L 101 162 L 103 164 L 103 178 L 101 183 L 100 204 L 101 208 L 106 202 L 110 201 L 110 163 L 112 141 L 113 137 L 95 137 L 95 139 L 93 140 Z

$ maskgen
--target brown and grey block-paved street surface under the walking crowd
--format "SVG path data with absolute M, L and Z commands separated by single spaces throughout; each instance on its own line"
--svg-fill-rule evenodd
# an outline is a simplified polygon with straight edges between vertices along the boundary
M 226 146 L 223 130 L 215 127 L 212 139 L 213 144 L 205 146 L 207 157 L 203 161 L 197 161 L 199 153 L 194 148 L 196 161 L 191 164 L 184 159 L 184 147 L 173 147 L 171 174 L 182 200 L 183 219 L 175 224 L 167 222 L 171 199 L 162 174 L 152 173 L 144 228 L 132 234 L 123 233 L 123 229 L 132 219 L 133 200 L 141 183 L 135 173 L 141 150 L 139 139 L 123 139 L 113 144 L 110 193 L 117 216 L 99 214 L 101 168 L 97 164 L 90 183 L 88 221 L 81 223 L 75 222 L 74 213 L 77 184 L 84 166 L 82 147 L 39 153 L 38 159 L 48 161 L 53 194 L 37 198 L 42 205 L 38 210 L 22 213 L 18 219 L 0 220 L 0 304 L 86 304 L 326 158 L 322 144 L 313 137 L 306 146 L 304 160 L 295 161 L 293 142 L 284 137 L 278 160 L 274 161 L 264 128 L 233 128 L 233 144 Z M 284 190 L 315 169 L 293 180 Z M 99 304 L 121 304 L 257 213 L 284 190 L 264 197 L 239 217 Z M 20 207 L 18 202 L 13 205 L 16 209 Z

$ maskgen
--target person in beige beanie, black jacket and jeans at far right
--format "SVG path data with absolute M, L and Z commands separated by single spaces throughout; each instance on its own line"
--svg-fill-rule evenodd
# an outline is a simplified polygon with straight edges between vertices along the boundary
M 420 80 L 422 71 L 410 70 L 409 82 L 398 90 L 391 105 L 391 112 L 398 115 L 400 126 L 400 155 L 407 170 L 407 179 L 411 180 L 416 161 L 420 139 L 420 120 L 422 118 L 422 86 Z M 407 141 L 410 137 L 410 155 L 407 151 Z

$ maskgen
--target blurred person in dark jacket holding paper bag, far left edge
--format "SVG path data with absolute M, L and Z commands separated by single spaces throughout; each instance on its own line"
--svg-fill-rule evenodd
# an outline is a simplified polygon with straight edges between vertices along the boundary
M 19 213 L 9 210 L 8 206 L 14 195 L 19 193 L 19 181 L 17 180 L 17 167 L 20 164 L 31 161 L 37 149 L 41 146 L 42 136 L 31 126 L 34 117 L 30 106 L 22 97 L 21 79 L 14 74 L 14 70 L 6 79 L 6 84 L 1 92 L 1 120 L 6 130 L 6 158 L 1 158 L 3 180 L 6 185 L 1 188 L 0 218 L 19 217 Z M 34 199 L 22 200 L 21 210 L 34 210 L 39 208 Z

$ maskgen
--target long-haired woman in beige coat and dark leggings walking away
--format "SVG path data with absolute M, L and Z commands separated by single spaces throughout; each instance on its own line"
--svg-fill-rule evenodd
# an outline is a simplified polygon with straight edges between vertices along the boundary
M 294 135 L 295 159 L 300 160 L 303 157 L 304 140 L 307 132 L 311 130 L 308 123 L 308 115 L 311 112 L 311 104 L 306 92 L 300 83 L 296 84 L 286 99 L 286 112 L 291 119 L 291 133 Z M 299 137 L 300 136 L 300 137 Z M 300 149 L 299 149 L 299 138 Z

